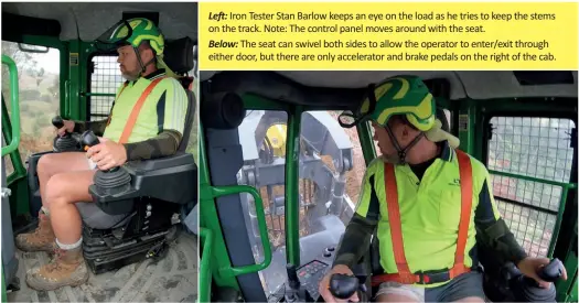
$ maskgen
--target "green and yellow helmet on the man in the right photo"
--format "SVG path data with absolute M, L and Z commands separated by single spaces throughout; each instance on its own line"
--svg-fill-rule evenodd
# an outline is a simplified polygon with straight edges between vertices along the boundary
M 343 112 L 340 125 L 351 128 L 372 120 L 386 126 L 395 115 L 405 115 L 420 131 L 428 131 L 436 121 L 436 100 L 428 87 L 416 76 L 396 76 L 368 87 L 368 94 L 356 111 Z

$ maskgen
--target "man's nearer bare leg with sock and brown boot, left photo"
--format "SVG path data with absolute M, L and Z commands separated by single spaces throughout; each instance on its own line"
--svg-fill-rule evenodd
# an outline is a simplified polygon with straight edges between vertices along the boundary
M 88 279 L 83 258 L 82 219 L 74 205 L 89 202 L 88 186 L 96 171 L 56 174 L 47 183 L 46 199 L 53 218 L 52 228 L 58 246 L 57 258 L 40 270 L 26 275 L 26 283 L 35 290 L 55 290 L 65 285 L 76 286 Z

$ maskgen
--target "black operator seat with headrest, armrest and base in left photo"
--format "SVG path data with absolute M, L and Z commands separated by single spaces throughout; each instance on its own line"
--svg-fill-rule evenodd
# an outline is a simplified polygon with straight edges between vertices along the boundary
M 163 257 L 164 248 L 178 237 L 180 225 L 196 205 L 197 167 L 193 155 L 186 153 L 196 106 L 190 89 L 193 77 L 186 76 L 194 67 L 193 45 L 189 37 L 167 42 L 163 57 L 179 75 L 189 100 L 178 152 L 171 156 L 128 162 L 119 167 L 129 176 L 124 191 L 111 194 L 95 183 L 89 187 L 93 202 L 76 203 L 83 219 L 84 257 L 95 274 L 146 258 Z M 37 159 L 31 161 L 29 180 L 37 184 L 36 163 Z M 97 172 L 95 178 L 106 174 Z M 34 193 L 37 187 L 31 191 Z

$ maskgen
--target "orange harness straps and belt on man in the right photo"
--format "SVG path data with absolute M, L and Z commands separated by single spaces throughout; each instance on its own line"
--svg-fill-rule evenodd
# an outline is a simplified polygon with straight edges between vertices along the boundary
M 396 281 L 403 284 L 430 284 L 448 281 L 454 277 L 469 272 L 464 266 L 464 248 L 469 234 L 469 225 L 472 210 L 472 165 L 467 153 L 457 150 L 461 185 L 461 213 L 459 223 L 459 235 L 457 251 L 454 253 L 454 266 L 450 270 L 437 273 L 412 273 L 406 261 L 404 252 L 403 226 L 400 221 L 400 208 L 398 205 L 398 190 L 396 175 L 392 163 L 384 163 L 384 183 L 386 190 L 386 205 L 388 207 L 388 219 L 390 221 L 390 235 L 394 249 L 394 259 L 398 268 L 397 273 L 386 273 L 372 277 L 372 285 L 377 286 L 383 282 Z M 436 277 L 435 277 L 436 275 Z M 442 280 L 442 281 L 441 281 Z

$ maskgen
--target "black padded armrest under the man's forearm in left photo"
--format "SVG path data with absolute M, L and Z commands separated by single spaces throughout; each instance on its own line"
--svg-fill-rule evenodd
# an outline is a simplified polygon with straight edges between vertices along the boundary
M 106 213 L 127 213 L 127 201 L 139 197 L 152 197 L 176 204 L 196 202 L 197 166 L 191 154 L 181 152 L 162 159 L 131 162 L 120 170 L 125 170 L 130 176 L 130 183 L 121 193 L 106 194 L 96 185 L 88 188 L 93 201 Z M 115 206 L 115 209 L 111 209 L 111 204 L 119 203 L 127 206 Z

